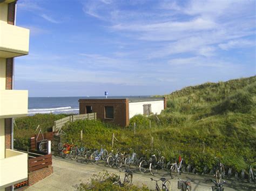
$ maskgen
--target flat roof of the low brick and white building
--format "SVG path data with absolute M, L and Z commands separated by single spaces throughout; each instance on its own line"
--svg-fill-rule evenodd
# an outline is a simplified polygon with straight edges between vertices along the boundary
M 160 101 L 164 100 L 164 97 L 144 97 L 144 96 L 133 96 L 133 97 L 108 97 L 108 98 L 103 98 L 103 97 L 88 97 L 88 98 L 82 98 L 79 99 L 79 101 L 86 101 L 86 100 L 102 100 L 102 101 L 114 101 L 114 100 L 129 100 L 129 102 L 146 102 L 146 101 Z

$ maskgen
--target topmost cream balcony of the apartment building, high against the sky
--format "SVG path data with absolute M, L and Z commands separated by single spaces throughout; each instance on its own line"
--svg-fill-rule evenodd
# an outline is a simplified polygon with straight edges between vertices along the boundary
M 29 53 L 29 30 L 0 20 L 0 58 Z

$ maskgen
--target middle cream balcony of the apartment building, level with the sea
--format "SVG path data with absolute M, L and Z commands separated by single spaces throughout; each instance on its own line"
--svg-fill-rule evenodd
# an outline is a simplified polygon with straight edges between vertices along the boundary
M 28 90 L 0 90 L 0 118 L 28 114 Z

